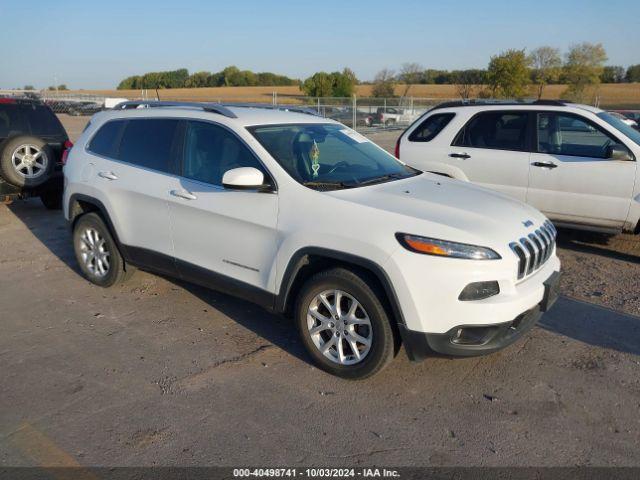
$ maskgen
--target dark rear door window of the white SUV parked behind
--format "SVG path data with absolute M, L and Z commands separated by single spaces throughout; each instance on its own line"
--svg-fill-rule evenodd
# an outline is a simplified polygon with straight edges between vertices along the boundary
M 528 151 L 527 112 L 484 112 L 458 133 L 457 147 Z

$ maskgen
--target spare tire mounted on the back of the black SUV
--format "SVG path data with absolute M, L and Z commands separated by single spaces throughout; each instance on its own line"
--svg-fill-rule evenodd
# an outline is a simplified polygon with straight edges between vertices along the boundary
M 15 137 L 5 142 L 0 153 L 0 174 L 16 187 L 34 188 L 49 180 L 55 162 L 53 150 L 44 140 Z

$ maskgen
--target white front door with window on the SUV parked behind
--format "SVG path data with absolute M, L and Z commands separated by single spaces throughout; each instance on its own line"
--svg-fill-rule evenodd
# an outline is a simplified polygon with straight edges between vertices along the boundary
M 607 157 L 611 146 L 627 147 L 582 116 L 551 111 L 535 115 L 527 202 L 555 220 L 621 227 L 637 164 Z

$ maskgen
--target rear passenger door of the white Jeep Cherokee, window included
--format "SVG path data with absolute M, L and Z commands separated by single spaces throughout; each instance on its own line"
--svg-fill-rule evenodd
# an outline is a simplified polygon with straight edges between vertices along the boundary
M 181 122 L 164 118 L 112 120 L 91 139 L 87 171 L 103 194 L 120 242 L 136 263 L 175 274 L 169 192 L 179 188 Z

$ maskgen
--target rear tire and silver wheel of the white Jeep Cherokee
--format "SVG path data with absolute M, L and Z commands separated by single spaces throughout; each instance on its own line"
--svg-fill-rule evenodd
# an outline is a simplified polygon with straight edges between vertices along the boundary
M 100 287 L 122 283 L 133 273 L 97 213 L 86 213 L 75 222 L 73 250 L 83 276 Z M 100 254 L 98 258 L 96 253 Z

